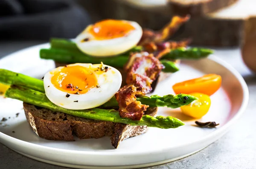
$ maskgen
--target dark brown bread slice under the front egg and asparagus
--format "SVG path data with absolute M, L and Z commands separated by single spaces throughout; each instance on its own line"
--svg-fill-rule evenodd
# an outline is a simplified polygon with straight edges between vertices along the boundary
M 79 118 L 27 103 L 23 103 L 23 107 L 32 130 L 47 140 L 75 141 L 73 134 L 80 139 L 111 136 L 112 146 L 117 148 L 121 141 L 141 135 L 148 129 L 146 126 Z M 145 114 L 155 116 L 157 107 L 148 108 Z

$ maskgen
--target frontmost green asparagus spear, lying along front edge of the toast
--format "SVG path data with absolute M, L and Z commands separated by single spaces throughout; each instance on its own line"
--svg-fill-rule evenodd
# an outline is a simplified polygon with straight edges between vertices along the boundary
M 129 118 L 121 118 L 116 110 L 105 110 L 99 108 L 88 110 L 68 110 L 53 104 L 51 101 L 49 101 L 49 99 L 47 99 L 47 96 L 44 93 L 14 85 L 12 85 L 6 91 L 5 96 L 12 99 L 18 99 L 35 106 L 44 107 L 52 111 L 67 113 L 69 115 L 74 115 L 81 118 L 90 118 L 94 120 L 112 121 L 115 123 L 140 126 L 146 125 L 148 127 L 158 127 L 163 129 L 176 128 L 184 125 L 182 121 L 171 116 L 157 116 L 154 118 L 150 115 L 143 115 L 143 118 L 140 121 L 133 121 Z

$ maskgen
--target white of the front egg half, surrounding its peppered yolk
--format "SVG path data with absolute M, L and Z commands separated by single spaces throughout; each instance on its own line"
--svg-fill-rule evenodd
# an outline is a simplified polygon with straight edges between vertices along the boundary
M 80 65 L 86 68 L 100 68 L 101 64 L 88 64 L 88 63 L 76 63 L 68 66 Z M 104 65 L 108 66 L 108 65 Z M 84 94 L 70 94 L 67 98 L 67 92 L 58 90 L 51 82 L 52 76 L 58 70 L 64 67 L 58 67 L 54 70 L 47 72 L 44 76 L 44 90 L 47 98 L 59 107 L 63 107 L 70 110 L 83 110 L 98 107 L 107 101 L 109 101 L 119 90 L 122 83 L 122 75 L 116 68 L 108 66 L 110 68 L 107 72 L 97 74 L 99 88 L 93 87 L 87 93 Z M 72 83 L 72 82 L 71 82 Z M 78 102 L 74 102 L 78 101 Z

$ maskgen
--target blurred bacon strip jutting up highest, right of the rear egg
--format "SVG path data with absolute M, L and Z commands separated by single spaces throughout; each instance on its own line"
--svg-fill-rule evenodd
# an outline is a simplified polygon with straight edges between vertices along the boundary
M 163 42 L 171 37 L 183 23 L 190 19 L 189 15 L 185 17 L 174 16 L 172 20 L 166 24 L 160 31 L 153 31 L 150 29 L 143 29 L 143 34 L 138 45 L 145 45 L 150 42 Z

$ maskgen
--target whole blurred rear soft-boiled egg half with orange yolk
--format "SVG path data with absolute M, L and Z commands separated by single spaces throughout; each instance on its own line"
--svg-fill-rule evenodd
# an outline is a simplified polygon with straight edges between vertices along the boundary
M 140 41 L 142 28 L 127 20 L 102 20 L 87 26 L 76 39 L 80 51 L 91 56 L 114 56 L 133 48 Z

